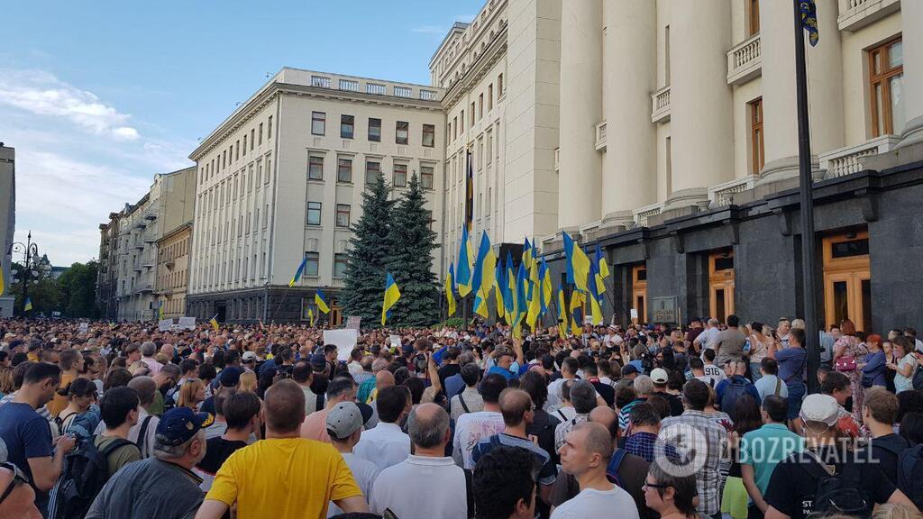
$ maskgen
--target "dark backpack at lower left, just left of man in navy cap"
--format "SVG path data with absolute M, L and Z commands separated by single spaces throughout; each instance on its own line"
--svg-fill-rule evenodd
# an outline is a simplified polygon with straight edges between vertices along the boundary
M 78 448 L 66 456 L 67 468 L 58 489 L 55 515 L 58 519 L 86 515 L 96 494 L 112 476 L 109 474 L 109 454 L 126 445 L 134 445 L 131 441 L 117 438 L 101 451 L 93 442 L 95 439 L 95 436 L 90 436 L 80 441 Z

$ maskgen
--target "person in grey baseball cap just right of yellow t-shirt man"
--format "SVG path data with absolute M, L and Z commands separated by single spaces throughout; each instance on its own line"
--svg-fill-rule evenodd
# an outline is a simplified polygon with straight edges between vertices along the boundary
M 365 407 L 368 416 L 363 412 L 363 408 L 353 402 L 341 402 L 334 405 L 327 415 L 327 434 L 330 435 L 333 448 L 342 454 L 343 460 L 349 466 L 356 485 L 362 490 L 362 495 L 367 497 L 372 493 L 372 485 L 375 484 L 380 469 L 366 458 L 353 453 L 353 448 L 359 442 L 365 423 L 372 415 L 372 408 L 368 405 Z M 342 510 L 330 501 L 328 515 L 337 513 L 342 513 Z

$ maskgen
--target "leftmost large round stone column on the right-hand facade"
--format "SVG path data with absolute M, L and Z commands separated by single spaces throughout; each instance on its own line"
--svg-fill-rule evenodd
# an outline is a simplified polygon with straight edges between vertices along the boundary
M 602 216 L 602 160 L 595 147 L 596 124 L 603 119 L 602 20 L 602 0 L 561 2 L 557 226 L 562 229 Z

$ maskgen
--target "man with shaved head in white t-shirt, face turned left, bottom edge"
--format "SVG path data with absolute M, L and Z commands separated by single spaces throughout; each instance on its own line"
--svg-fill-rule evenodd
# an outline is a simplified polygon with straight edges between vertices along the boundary
M 638 519 L 638 507 L 628 492 L 609 483 L 605 467 L 612 457 L 612 437 L 603 424 L 583 422 L 568 433 L 561 446 L 561 467 L 577 478 L 580 493 L 558 506 L 551 519 L 607 517 Z

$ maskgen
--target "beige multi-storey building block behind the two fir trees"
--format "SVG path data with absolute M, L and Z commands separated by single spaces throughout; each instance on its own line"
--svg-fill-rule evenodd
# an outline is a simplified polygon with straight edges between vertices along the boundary
M 381 172 L 396 197 L 419 175 L 433 228 L 441 226 L 441 97 L 438 88 L 294 68 L 270 78 L 190 155 L 198 180 L 189 314 L 306 319 L 322 288 L 330 319 L 341 320 L 350 226 L 368 178 Z

